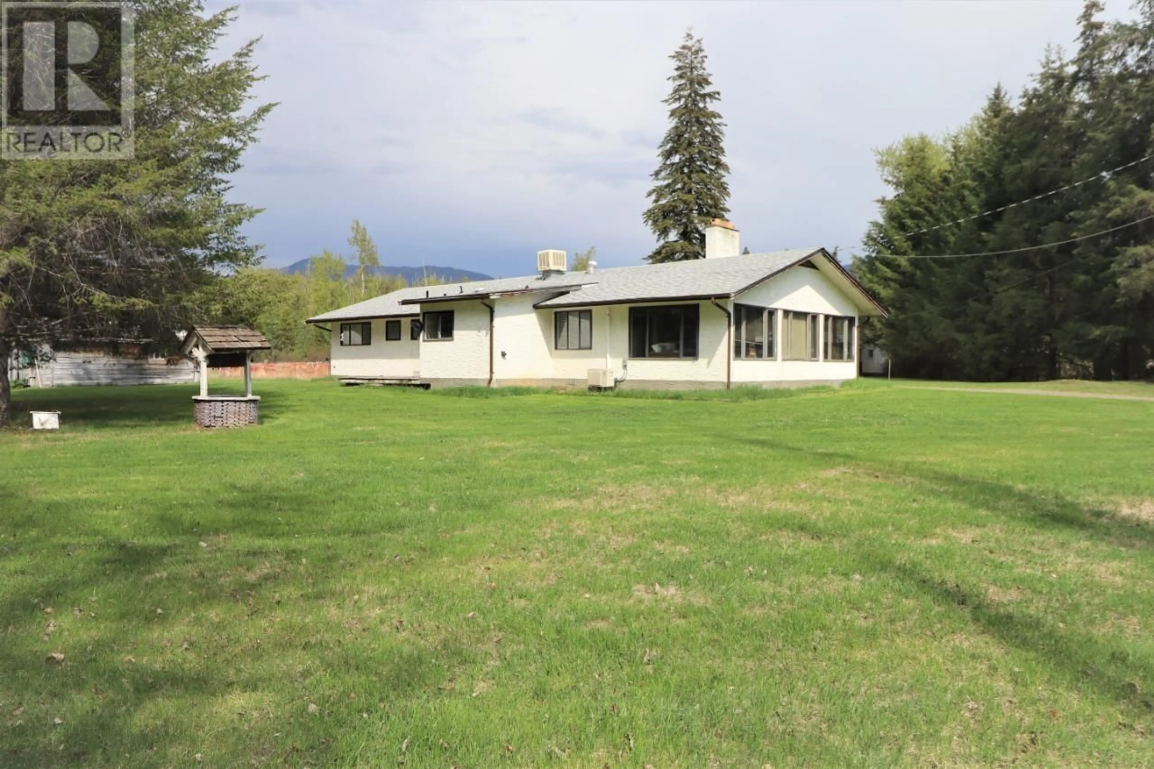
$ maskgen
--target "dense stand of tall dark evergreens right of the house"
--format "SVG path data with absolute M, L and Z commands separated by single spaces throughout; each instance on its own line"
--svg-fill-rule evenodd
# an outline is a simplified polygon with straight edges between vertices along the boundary
M 1151 373 L 1154 222 L 1134 223 L 1154 215 L 1154 1 L 1127 21 L 1102 12 L 1086 2 L 1077 53 L 1048 50 L 1016 100 L 997 87 L 961 129 L 878 152 L 893 194 L 854 271 L 890 311 L 868 334 L 896 373 Z

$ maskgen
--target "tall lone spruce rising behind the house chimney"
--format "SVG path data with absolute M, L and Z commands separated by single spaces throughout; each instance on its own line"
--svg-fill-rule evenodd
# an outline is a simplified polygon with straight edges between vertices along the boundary
M 705 256 L 705 225 L 729 212 L 729 185 L 725 162 L 725 124 L 712 109 L 721 98 L 705 69 L 700 38 L 685 32 L 673 55 L 673 89 L 669 129 L 658 148 L 657 184 L 649 191 L 652 201 L 644 221 L 657 237 L 650 262 L 673 262 Z

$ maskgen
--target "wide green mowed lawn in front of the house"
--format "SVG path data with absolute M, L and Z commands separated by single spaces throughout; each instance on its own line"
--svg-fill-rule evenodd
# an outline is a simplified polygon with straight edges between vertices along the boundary
M 0 766 L 1154 763 L 1154 403 L 257 391 L 17 394 Z

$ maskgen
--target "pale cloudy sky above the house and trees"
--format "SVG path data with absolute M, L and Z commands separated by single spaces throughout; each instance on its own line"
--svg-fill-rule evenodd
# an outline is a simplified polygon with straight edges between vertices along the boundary
M 1080 7 L 241 0 L 228 43 L 262 37 L 256 96 L 280 106 L 235 199 L 267 209 L 248 231 L 271 266 L 347 251 L 354 217 L 384 264 L 523 275 L 589 246 L 638 263 L 668 54 L 692 28 L 743 245 L 855 247 L 885 192 L 874 150 L 957 127 L 998 81 L 1018 92 Z

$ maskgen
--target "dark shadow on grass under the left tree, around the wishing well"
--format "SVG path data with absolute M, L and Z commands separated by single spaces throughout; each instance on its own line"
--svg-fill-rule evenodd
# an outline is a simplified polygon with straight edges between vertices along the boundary
M 242 394 L 238 387 L 219 387 L 213 395 Z M 69 427 L 147 427 L 193 424 L 193 396 L 200 388 L 188 384 L 133 387 L 59 387 L 13 393 L 13 425 L 31 425 L 31 411 L 59 411 L 61 430 Z M 261 396 L 261 420 L 275 421 L 284 411 L 277 391 Z

